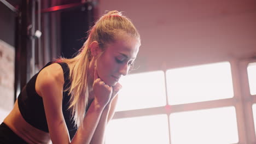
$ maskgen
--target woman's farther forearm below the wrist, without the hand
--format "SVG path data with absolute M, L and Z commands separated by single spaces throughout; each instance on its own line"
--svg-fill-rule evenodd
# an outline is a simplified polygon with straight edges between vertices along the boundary
M 104 143 L 104 133 L 107 126 L 108 114 L 110 110 L 110 105 L 108 104 L 101 115 L 100 121 L 98 122 L 97 128 L 92 136 L 90 144 L 103 144 Z

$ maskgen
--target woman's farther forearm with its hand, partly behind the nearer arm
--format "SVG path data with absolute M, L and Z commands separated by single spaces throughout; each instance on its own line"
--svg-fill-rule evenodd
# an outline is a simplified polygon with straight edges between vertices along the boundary
M 94 136 L 91 139 L 91 144 L 104 143 L 104 133 L 108 122 L 114 116 L 115 107 L 117 105 L 118 95 L 112 100 L 111 104 L 108 104 L 102 112 L 100 121 L 98 122 Z

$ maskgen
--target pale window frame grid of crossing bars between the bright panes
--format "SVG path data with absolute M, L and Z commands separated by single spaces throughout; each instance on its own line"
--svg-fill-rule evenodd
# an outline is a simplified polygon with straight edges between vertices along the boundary
M 247 58 L 242 60 L 231 59 L 231 75 L 234 89 L 234 97 L 228 99 L 201 101 L 197 103 L 168 105 L 168 97 L 166 93 L 167 105 L 159 107 L 151 107 L 147 109 L 127 110 L 115 112 L 113 119 L 150 116 L 166 114 L 168 121 L 169 141 L 171 143 L 170 133 L 170 114 L 183 111 L 205 110 L 219 107 L 234 106 L 236 110 L 238 143 L 251 144 L 256 143 L 253 110 L 252 105 L 256 104 L 256 95 L 251 95 L 249 91 L 247 67 L 249 63 L 255 63 L 256 58 Z M 166 72 L 167 69 L 164 69 Z M 165 73 L 166 77 L 166 73 Z M 166 84 L 166 79 L 165 79 Z M 166 85 L 165 85 L 166 86 Z M 167 87 L 166 87 L 167 92 Z

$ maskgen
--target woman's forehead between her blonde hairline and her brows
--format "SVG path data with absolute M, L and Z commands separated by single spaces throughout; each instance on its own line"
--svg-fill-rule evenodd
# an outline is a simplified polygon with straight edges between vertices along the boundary
M 119 34 L 113 43 L 109 43 L 106 51 L 123 53 L 130 58 L 136 58 L 139 50 L 139 41 L 127 34 Z

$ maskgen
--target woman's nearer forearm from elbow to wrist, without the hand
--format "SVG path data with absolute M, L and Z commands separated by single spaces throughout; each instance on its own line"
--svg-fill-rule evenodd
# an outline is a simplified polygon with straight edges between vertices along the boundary
M 89 144 L 92 136 L 95 133 L 97 125 L 100 121 L 104 106 L 98 105 L 94 100 L 83 120 L 82 125 L 78 128 L 71 143 L 86 143 Z

